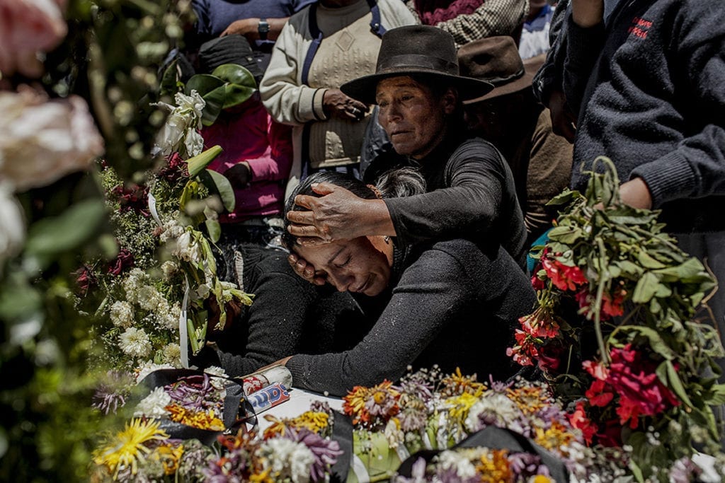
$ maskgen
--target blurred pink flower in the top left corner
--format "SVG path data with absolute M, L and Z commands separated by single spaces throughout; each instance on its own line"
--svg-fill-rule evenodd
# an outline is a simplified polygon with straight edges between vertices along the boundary
M 54 49 L 67 33 L 65 0 L 0 0 L 0 71 L 43 74 L 38 52 Z

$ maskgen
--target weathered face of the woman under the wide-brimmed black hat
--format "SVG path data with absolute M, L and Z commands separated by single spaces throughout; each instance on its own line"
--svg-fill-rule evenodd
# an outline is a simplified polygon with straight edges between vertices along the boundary
M 436 98 L 427 85 L 411 77 L 390 77 L 378 83 L 379 122 L 398 154 L 421 159 L 446 134 L 446 117 L 455 110 L 455 93 Z

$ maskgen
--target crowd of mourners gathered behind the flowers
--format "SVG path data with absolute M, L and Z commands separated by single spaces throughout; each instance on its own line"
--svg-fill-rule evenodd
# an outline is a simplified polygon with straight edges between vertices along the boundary
M 241 64 L 258 83 L 202 131 L 236 193 L 220 270 L 256 297 L 197 366 L 285 364 L 331 395 L 433 364 L 513 376 L 546 203 L 583 190 L 600 155 L 623 201 L 661 209 L 725 281 L 710 0 L 193 4 L 189 69 Z M 708 304 L 725 335 L 725 293 Z

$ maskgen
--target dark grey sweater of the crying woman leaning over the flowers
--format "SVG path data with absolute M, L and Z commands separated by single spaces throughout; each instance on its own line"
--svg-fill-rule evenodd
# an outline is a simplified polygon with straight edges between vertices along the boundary
M 294 386 L 344 395 L 355 385 L 397 380 L 408 366 L 434 364 L 484 380 L 510 377 L 516 368 L 506 348 L 536 296 L 509 254 L 498 248 L 489 256 L 460 239 L 395 254 L 390 292 L 358 297 L 376 321 L 370 332 L 344 352 L 293 356 Z

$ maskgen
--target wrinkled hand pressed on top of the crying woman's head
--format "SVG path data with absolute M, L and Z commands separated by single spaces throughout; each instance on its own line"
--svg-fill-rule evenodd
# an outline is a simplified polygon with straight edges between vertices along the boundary
M 365 232 L 363 222 L 365 202 L 349 190 L 320 182 L 312 185 L 319 195 L 297 195 L 294 203 L 310 211 L 289 211 L 287 219 L 291 235 L 297 237 L 297 243 L 303 246 L 317 246 L 336 240 L 351 240 Z

